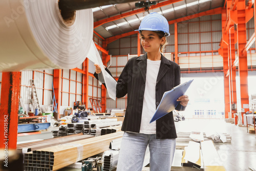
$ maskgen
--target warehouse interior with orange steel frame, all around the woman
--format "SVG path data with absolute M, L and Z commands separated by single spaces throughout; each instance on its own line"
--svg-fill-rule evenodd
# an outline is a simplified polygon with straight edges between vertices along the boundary
M 185 111 L 174 114 L 171 170 L 256 170 L 254 1 L 4 0 L 0 8 L 0 170 L 116 170 L 127 94 L 113 99 L 94 63 L 118 80 L 145 54 L 135 30 L 152 12 L 169 24 L 162 54 L 180 66 L 181 83 L 194 79 Z

